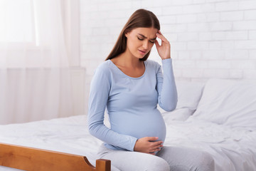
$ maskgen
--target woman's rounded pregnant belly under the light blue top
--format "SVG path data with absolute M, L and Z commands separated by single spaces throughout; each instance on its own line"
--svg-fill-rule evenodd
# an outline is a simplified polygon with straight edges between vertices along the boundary
M 166 138 L 166 125 L 159 110 L 136 114 L 119 113 L 110 120 L 111 129 L 117 133 L 131 135 L 138 139 L 158 137 L 158 140 L 164 141 Z

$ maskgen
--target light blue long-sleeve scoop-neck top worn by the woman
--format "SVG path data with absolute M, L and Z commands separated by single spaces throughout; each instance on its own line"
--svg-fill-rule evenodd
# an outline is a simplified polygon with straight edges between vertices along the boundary
M 139 138 L 166 138 L 166 125 L 157 103 L 166 111 L 176 108 L 177 90 L 172 59 L 144 61 L 144 74 L 133 78 L 124 74 L 111 60 L 95 70 L 90 86 L 89 131 L 112 150 L 134 150 Z M 104 114 L 111 128 L 104 125 Z

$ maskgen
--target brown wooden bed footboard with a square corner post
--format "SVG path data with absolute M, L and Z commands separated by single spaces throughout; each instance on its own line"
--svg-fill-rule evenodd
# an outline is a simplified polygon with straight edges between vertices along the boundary
M 0 165 L 28 171 L 110 171 L 110 160 L 96 160 L 64 152 L 0 143 Z

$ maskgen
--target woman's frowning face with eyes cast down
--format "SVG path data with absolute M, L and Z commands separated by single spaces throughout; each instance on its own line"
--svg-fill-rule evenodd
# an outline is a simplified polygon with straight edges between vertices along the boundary
M 156 40 L 156 28 L 134 28 L 125 34 L 127 37 L 127 50 L 136 58 L 143 58 L 148 53 Z

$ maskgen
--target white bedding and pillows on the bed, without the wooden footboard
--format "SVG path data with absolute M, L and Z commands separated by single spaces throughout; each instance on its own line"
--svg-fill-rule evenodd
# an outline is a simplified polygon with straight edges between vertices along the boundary
M 213 156 L 215 170 L 256 170 L 256 81 L 209 79 L 176 83 L 176 110 L 166 121 L 164 145 L 192 147 Z M 86 157 L 93 169 L 102 144 L 87 130 L 86 115 L 0 125 L 0 143 Z M 105 124 L 107 122 L 107 115 Z M 1 165 L 0 151 L 0 165 Z M 110 167 L 110 160 L 102 170 Z M 111 166 L 114 168 L 113 166 Z M 11 171 L 1 166 L 0 170 Z

